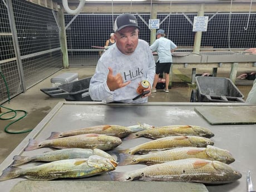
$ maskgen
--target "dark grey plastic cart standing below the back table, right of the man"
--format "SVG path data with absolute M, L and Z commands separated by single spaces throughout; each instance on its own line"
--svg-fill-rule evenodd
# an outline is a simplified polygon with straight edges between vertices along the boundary
M 191 102 L 245 102 L 244 95 L 229 78 L 198 76 L 195 81 Z

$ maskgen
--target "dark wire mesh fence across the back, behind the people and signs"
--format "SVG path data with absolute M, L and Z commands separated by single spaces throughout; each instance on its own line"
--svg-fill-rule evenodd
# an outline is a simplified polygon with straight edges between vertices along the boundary
M 113 23 L 119 14 L 78 14 L 74 16 L 65 14 L 67 28 L 68 57 L 71 66 L 96 65 L 102 49 L 92 46 L 104 46 Z M 150 44 L 151 30 L 148 27 L 150 14 L 135 13 L 140 26 L 139 38 Z M 177 46 L 177 51 L 193 51 L 195 32 L 193 32 L 193 19 L 196 13 L 159 13 L 160 28 L 165 30 L 166 37 Z M 202 32 L 202 51 L 230 51 L 246 50 L 256 47 L 256 14 L 250 13 L 205 13 L 209 17 L 208 28 Z M 223 53 L 219 53 L 223 54 Z M 227 52 L 228 54 L 228 52 Z

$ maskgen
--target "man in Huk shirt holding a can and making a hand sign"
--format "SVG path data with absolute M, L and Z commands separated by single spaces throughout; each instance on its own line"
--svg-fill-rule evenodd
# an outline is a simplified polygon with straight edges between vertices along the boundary
M 116 43 L 100 57 L 95 74 L 89 86 L 89 95 L 93 101 L 106 103 L 147 102 L 155 76 L 155 61 L 148 43 L 139 40 L 136 17 L 121 14 L 114 24 Z M 138 93 L 141 81 L 149 81 L 146 95 L 133 100 Z

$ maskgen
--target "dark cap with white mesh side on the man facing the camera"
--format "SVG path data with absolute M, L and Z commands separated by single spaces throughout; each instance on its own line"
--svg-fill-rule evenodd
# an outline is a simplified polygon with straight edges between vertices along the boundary
M 137 19 L 134 15 L 130 13 L 121 14 L 116 18 L 114 31 L 120 31 L 122 28 L 127 26 L 134 26 L 140 29 L 137 23 Z

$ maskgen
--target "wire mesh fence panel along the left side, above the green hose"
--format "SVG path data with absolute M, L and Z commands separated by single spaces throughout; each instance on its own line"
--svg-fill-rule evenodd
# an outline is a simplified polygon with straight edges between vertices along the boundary
M 0 1 L 0 13 L 0 102 L 4 102 L 24 91 L 22 83 L 29 88 L 60 70 L 62 56 L 51 9 L 12 0 Z

